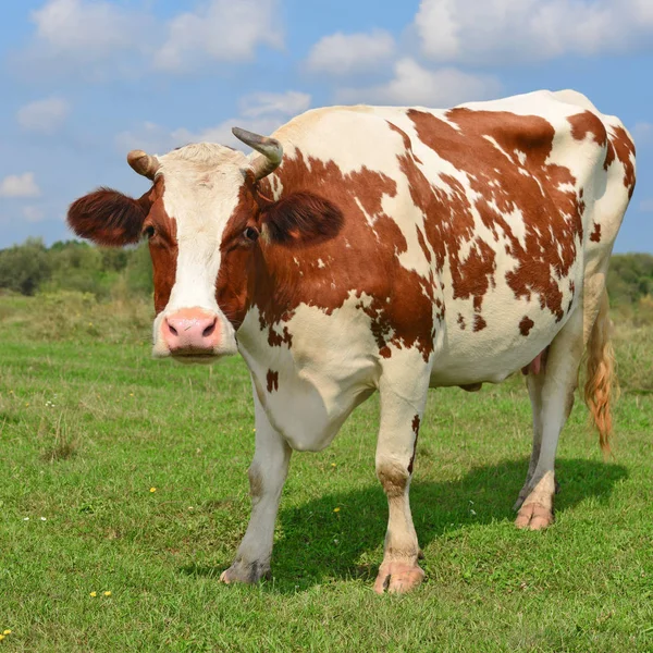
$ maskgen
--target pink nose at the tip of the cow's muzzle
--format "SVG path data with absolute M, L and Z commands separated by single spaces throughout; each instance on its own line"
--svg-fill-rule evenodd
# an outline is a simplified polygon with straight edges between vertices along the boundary
M 218 316 L 201 308 L 183 308 L 168 316 L 162 336 L 172 354 L 211 353 L 218 345 Z

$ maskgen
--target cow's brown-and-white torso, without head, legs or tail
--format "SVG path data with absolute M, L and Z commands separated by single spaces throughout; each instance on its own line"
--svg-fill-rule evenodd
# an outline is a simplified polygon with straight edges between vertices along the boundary
M 575 136 L 578 104 L 552 94 L 469 107 L 321 109 L 275 134 L 285 159 L 273 189 L 349 195 L 350 208 L 337 237 L 274 259 L 292 274 L 293 298 L 280 297 L 271 319 L 254 306 L 238 330 L 259 397 L 295 448 L 329 444 L 386 369 L 419 370 L 434 387 L 498 382 L 528 366 L 578 305 L 587 266 L 609 255 L 629 173 L 604 170 L 608 141 L 595 132 L 620 123 L 581 111 Z M 297 141 L 301 153 L 287 146 Z M 286 182 L 293 159 L 301 163 Z M 614 196 L 596 198 L 609 173 Z

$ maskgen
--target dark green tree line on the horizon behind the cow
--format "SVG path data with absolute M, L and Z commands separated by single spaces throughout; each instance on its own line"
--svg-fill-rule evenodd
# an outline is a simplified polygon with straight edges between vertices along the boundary
M 653 297 L 653 255 L 617 254 L 607 279 L 614 306 Z M 65 241 L 46 247 L 39 238 L 0 249 L 0 293 L 36 295 L 57 291 L 90 293 L 98 300 L 148 296 L 153 289 L 147 244 L 131 248 L 96 247 Z

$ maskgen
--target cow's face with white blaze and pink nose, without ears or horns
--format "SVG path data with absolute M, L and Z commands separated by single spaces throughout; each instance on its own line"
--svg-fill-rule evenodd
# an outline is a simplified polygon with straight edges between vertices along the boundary
M 246 276 L 234 280 L 229 271 L 234 259 L 244 262 L 259 234 L 247 164 L 241 152 L 210 145 L 160 159 L 141 227 L 155 273 L 155 356 L 209 360 L 236 352 L 230 320 L 238 320 L 242 307 L 220 300 L 225 274 L 232 291 L 245 292 L 233 283 L 245 285 Z

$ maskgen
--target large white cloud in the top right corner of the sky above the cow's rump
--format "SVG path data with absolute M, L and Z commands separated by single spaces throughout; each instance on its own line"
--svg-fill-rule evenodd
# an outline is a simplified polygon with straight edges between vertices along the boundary
M 440 62 L 495 64 L 631 50 L 653 35 L 650 0 L 422 0 L 415 27 Z

